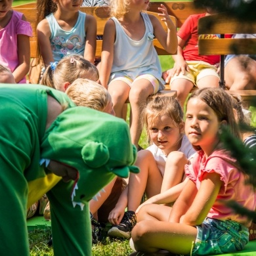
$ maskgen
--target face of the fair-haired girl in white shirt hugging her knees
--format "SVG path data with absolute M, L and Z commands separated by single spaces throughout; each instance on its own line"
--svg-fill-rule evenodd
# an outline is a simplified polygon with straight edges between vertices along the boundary
M 148 119 L 148 130 L 150 139 L 163 153 L 168 155 L 181 147 L 181 133 L 183 126 L 173 122 L 171 117 L 164 115 L 155 120 Z

